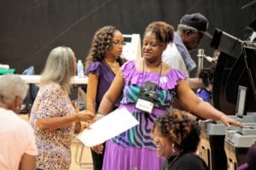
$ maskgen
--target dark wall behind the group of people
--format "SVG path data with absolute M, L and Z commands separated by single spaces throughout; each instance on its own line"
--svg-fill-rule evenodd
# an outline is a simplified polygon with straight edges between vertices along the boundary
M 39 74 L 50 49 L 65 45 L 84 61 L 93 34 L 102 26 L 117 26 L 124 34 L 143 38 L 149 22 L 164 20 L 175 28 L 183 14 L 207 16 L 215 27 L 244 39 L 243 29 L 256 17 L 252 0 L 0 0 L 0 63 L 21 73 L 34 65 Z M 210 39 L 199 48 L 211 55 Z M 196 58 L 197 50 L 191 52 Z M 196 69 L 195 69 L 196 70 Z M 193 74 L 192 74 L 193 76 Z

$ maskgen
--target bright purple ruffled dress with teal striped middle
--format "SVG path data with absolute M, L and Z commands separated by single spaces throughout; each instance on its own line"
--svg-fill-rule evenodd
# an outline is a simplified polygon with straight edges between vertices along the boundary
M 122 65 L 121 70 L 124 73 L 125 88 L 119 108 L 125 107 L 139 124 L 108 140 L 102 169 L 158 170 L 164 160 L 156 156 L 154 142 L 150 138 L 150 130 L 156 117 L 163 115 L 165 110 L 171 106 L 177 94 L 177 82 L 185 79 L 186 76 L 175 69 L 170 70 L 166 75 L 137 71 L 133 60 Z M 158 101 L 154 103 L 151 114 L 135 108 L 137 95 L 144 86 L 144 82 L 147 81 L 158 84 Z

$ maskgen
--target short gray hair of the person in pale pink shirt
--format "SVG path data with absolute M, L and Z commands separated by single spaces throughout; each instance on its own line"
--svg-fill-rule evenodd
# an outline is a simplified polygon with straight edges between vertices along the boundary
M 28 85 L 18 75 L 7 74 L 0 77 L 0 100 L 3 104 L 11 105 L 17 96 L 25 99 L 27 89 Z

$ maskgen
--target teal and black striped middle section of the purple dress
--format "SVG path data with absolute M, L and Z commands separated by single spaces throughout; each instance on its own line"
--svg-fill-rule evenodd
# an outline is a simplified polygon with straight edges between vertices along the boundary
M 125 86 L 123 91 L 123 98 L 121 99 L 120 104 L 135 104 L 137 101 L 137 95 L 140 93 L 140 90 L 141 87 L 137 85 Z M 158 89 L 157 93 L 158 101 L 154 103 L 154 107 L 160 109 L 158 110 L 159 112 L 153 112 L 151 114 L 143 111 L 131 112 L 131 115 L 137 119 L 139 124 L 135 127 L 131 127 L 124 133 L 121 133 L 118 136 L 114 137 L 112 141 L 115 144 L 132 146 L 137 148 L 155 148 L 154 143 L 150 138 L 151 127 L 153 126 L 156 117 L 164 114 L 166 108 L 170 107 L 172 100 L 176 95 L 175 89 L 172 89 L 171 91 Z M 129 111 L 129 106 L 126 105 L 125 107 Z

